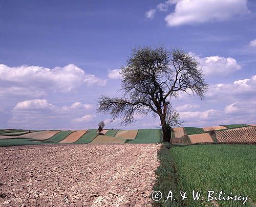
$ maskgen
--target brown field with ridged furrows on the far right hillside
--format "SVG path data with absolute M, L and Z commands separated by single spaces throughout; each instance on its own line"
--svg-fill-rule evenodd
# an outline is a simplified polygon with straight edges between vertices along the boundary
M 219 143 L 256 143 L 256 126 L 216 131 Z

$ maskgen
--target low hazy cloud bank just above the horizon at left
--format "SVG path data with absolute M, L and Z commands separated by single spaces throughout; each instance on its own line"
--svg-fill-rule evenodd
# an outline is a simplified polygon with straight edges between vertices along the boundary
M 92 104 L 81 102 L 75 102 L 70 106 L 57 106 L 46 99 L 25 100 L 18 102 L 13 108 L 12 118 L 8 124 L 13 128 L 26 129 L 88 128 L 89 126 L 77 123 L 95 118 L 95 114 L 91 114 L 93 107 Z M 79 118 L 81 114 L 86 115 Z

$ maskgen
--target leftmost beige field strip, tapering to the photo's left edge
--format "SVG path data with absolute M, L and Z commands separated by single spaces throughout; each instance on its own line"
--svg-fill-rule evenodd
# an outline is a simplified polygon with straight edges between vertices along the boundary
M 31 133 L 19 135 L 19 136 L 1 135 L 0 139 L 28 138 L 28 139 L 34 139 L 34 140 L 46 140 L 46 139 L 51 138 L 58 132 L 60 132 L 60 131 L 36 131 L 36 132 L 31 132 Z

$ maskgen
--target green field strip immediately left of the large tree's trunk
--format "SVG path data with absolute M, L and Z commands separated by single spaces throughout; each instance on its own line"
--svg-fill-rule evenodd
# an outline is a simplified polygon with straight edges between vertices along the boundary
M 160 143 L 162 140 L 160 129 L 139 129 L 135 140 L 128 140 L 129 144 Z

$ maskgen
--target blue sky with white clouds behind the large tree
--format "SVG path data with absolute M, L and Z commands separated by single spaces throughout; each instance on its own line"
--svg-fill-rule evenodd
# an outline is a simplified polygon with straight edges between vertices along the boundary
M 197 58 L 210 85 L 173 100 L 185 126 L 256 124 L 254 0 L 0 0 L 0 28 L 0 128 L 123 128 L 96 100 L 116 95 L 131 48 L 159 43 Z

